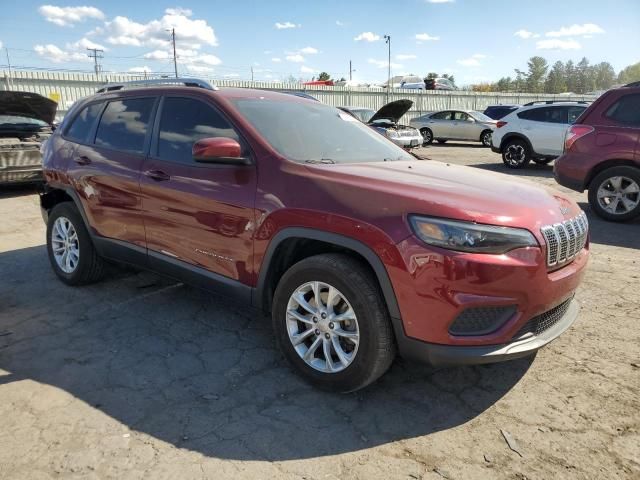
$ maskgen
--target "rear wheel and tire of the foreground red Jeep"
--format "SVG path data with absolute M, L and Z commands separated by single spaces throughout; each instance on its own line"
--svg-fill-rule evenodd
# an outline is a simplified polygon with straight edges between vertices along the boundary
M 65 225 L 69 225 L 67 232 L 64 232 Z M 66 247 L 65 234 L 69 240 Z M 67 285 L 86 285 L 103 276 L 104 260 L 98 256 L 84 221 L 71 202 L 59 203 L 49 213 L 47 254 L 53 271 Z

